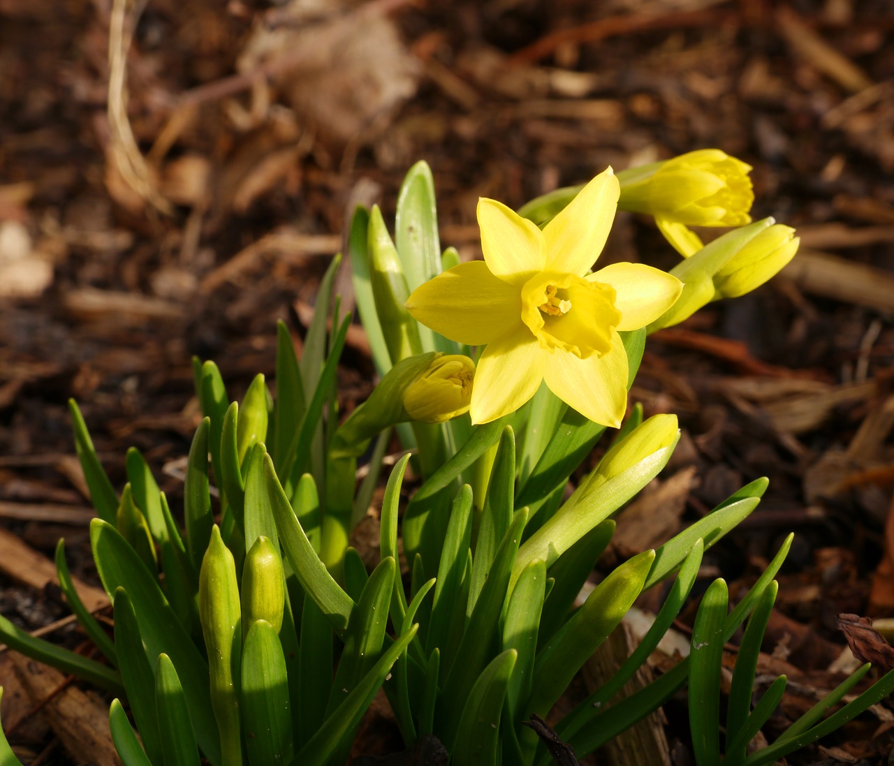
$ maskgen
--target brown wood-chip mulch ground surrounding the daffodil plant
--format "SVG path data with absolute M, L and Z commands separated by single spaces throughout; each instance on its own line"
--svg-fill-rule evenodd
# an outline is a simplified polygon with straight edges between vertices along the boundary
M 634 398 L 683 435 L 613 553 L 769 476 L 704 583 L 735 598 L 797 533 L 763 659 L 794 682 L 783 711 L 803 711 L 854 662 L 836 616 L 894 617 L 892 38 L 888 0 L 0 0 L 0 610 L 79 644 L 47 585 L 63 535 L 103 602 L 66 400 L 114 482 L 135 445 L 176 496 L 190 356 L 232 394 L 271 377 L 274 322 L 300 342 L 346 211 L 378 202 L 388 220 L 417 159 L 443 244 L 469 258 L 479 196 L 519 206 L 607 164 L 720 147 L 755 166 L 755 217 L 796 226 L 801 251 L 652 338 Z M 627 214 L 603 257 L 675 262 Z M 351 339 L 346 409 L 371 389 Z M 69 731 L 105 702 L 11 652 L 0 683 L 24 758 L 111 762 Z M 687 763 L 669 715 L 655 760 Z M 876 706 L 793 761 L 888 762 L 892 721 Z

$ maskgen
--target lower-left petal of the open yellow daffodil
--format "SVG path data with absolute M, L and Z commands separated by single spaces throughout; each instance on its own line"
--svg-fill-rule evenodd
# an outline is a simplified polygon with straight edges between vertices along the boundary
M 515 412 L 534 396 L 549 359 L 552 355 L 540 348 L 524 326 L 490 343 L 475 372 L 469 410 L 472 423 L 490 423 Z

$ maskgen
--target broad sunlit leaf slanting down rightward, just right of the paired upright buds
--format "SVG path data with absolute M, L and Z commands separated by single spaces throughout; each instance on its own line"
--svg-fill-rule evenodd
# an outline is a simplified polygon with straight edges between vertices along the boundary
M 269 455 L 264 456 L 264 467 L 267 492 L 274 511 L 276 529 L 279 532 L 283 551 L 285 551 L 291 568 L 298 576 L 305 593 L 316 602 L 326 619 L 329 620 L 333 630 L 342 635 L 345 628 L 348 627 L 354 602 L 333 580 L 332 575 L 326 571 L 323 562 L 317 557 L 316 551 L 295 516 L 295 512 L 291 509 L 283 487 L 276 477 L 276 469 Z

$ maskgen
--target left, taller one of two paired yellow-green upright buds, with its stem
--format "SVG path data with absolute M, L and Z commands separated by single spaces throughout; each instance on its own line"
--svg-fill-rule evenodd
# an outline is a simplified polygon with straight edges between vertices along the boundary
M 211 707 L 220 730 L 223 766 L 240 766 L 239 694 L 242 628 L 236 562 L 215 525 L 198 573 L 198 619 L 211 676 Z

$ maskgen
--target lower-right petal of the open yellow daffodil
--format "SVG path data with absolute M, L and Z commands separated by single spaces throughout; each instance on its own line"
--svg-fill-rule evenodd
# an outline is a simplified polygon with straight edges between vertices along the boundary
M 601 357 L 579 359 L 557 351 L 547 362 L 544 379 L 552 393 L 581 415 L 616 428 L 627 409 L 628 366 L 620 335 L 613 335 L 611 351 Z

